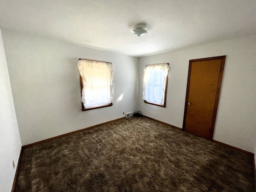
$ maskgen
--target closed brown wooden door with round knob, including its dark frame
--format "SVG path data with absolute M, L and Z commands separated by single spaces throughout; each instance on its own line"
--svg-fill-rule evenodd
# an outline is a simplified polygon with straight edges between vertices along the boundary
M 226 56 L 189 61 L 183 130 L 212 140 Z

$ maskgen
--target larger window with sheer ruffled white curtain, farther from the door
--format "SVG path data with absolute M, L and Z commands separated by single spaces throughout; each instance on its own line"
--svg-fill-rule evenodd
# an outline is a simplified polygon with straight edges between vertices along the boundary
M 79 59 L 82 110 L 113 105 L 114 67 L 112 63 Z

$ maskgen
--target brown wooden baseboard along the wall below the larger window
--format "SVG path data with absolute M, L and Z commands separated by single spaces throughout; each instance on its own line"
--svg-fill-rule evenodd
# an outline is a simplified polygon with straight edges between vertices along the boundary
M 114 120 L 111 120 L 111 121 L 108 121 L 108 122 L 100 123 L 100 124 L 97 124 L 97 125 L 93 125 L 93 126 L 90 126 L 90 127 L 86 127 L 86 128 L 80 129 L 80 130 L 76 130 L 76 131 L 72 131 L 72 132 L 69 132 L 69 133 L 58 135 L 58 136 L 55 136 L 55 137 L 52 137 L 52 138 L 44 139 L 42 141 L 38 141 L 38 142 L 35 142 L 35 143 L 24 145 L 22 147 L 24 149 L 25 148 L 29 148 L 29 147 L 32 147 L 32 146 L 36 146 L 36 145 L 39 145 L 39 144 L 42 144 L 42 143 L 46 143 L 48 141 L 52 141 L 52 140 L 55 140 L 55 139 L 58 139 L 58 138 L 69 136 L 69 135 L 72 135 L 72 134 L 75 134 L 75 133 L 78 133 L 78 132 L 82 132 L 82 131 L 85 131 L 85 130 L 88 130 L 88 129 L 92 129 L 92 128 L 95 128 L 95 127 L 98 127 L 98 126 L 101 126 L 101 125 L 104 125 L 104 124 L 108 124 L 108 123 L 111 123 L 111 122 L 114 122 L 114 121 L 117 121 L 117 120 L 120 120 L 120 119 L 124 119 L 124 118 L 125 117 L 121 117 L 121 118 L 114 119 Z

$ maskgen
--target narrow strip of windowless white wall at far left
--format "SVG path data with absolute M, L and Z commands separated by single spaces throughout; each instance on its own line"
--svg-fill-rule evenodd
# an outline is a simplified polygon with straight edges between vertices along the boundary
M 12 189 L 20 149 L 20 135 L 0 30 L 0 191 Z

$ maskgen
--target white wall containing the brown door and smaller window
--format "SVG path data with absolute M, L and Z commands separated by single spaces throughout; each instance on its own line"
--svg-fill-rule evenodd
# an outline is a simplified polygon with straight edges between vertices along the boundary
M 226 55 L 214 140 L 254 152 L 256 138 L 256 36 L 140 58 L 138 105 L 142 114 L 182 128 L 189 60 Z M 168 62 L 166 108 L 142 99 L 143 68 Z

